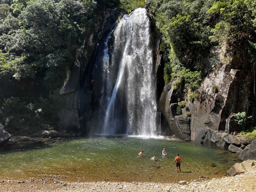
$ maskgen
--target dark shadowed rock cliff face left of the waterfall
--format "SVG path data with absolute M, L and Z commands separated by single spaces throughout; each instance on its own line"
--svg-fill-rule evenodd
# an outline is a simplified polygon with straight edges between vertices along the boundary
M 104 49 L 103 39 L 112 30 L 120 12 L 106 10 L 98 17 L 97 22 L 89 30 L 84 44 L 76 52 L 76 61 L 71 69 L 67 70 L 67 78 L 60 94 L 67 94 L 66 108 L 59 113 L 58 127 L 62 131 L 89 133 L 94 122 L 102 118 L 95 111 L 101 107 L 101 77 L 100 63 L 97 56 Z M 97 128 L 100 125 L 95 126 Z

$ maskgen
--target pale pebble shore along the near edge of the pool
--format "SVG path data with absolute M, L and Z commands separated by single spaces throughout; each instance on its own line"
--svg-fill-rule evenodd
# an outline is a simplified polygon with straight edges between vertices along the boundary
M 181 182 L 180 182 L 181 183 Z M 235 177 L 211 180 L 190 180 L 180 183 L 153 182 L 67 182 L 67 181 L 17 181 L 0 182 L 0 192 L 256 192 L 256 171 Z

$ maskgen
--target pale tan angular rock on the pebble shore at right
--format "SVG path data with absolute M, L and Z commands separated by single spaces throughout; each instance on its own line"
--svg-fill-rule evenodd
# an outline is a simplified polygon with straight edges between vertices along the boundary
M 242 163 L 236 163 L 228 170 L 227 173 L 230 176 L 235 176 L 241 173 L 251 172 L 255 170 L 252 167 L 253 165 L 256 165 L 256 162 L 254 160 L 246 160 Z

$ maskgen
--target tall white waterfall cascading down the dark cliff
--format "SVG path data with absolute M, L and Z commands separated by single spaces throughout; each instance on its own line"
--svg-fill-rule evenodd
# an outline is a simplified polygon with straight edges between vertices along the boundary
M 105 78 L 115 86 L 104 94 L 108 107 L 102 133 L 155 135 L 156 85 L 149 27 L 146 9 L 139 8 L 124 15 L 114 32 L 111 64 L 105 62 L 108 66 L 103 68 L 119 68 L 117 77 Z

